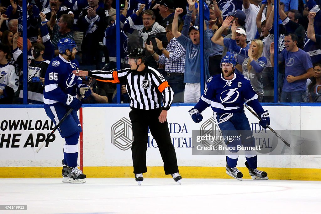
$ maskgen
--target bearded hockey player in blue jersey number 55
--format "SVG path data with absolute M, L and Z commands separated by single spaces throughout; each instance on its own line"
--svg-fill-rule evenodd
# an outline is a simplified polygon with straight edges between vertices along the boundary
M 72 73 L 79 66 L 74 60 L 77 53 L 74 40 L 61 39 L 57 46 L 59 55 L 51 60 L 45 75 L 44 108 L 55 124 L 59 123 L 70 108 L 74 109 L 58 128 L 66 142 L 62 176 L 64 183 L 85 183 L 86 175 L 77 168 L 77 144 L 79 133 L 82 132 L 77 110 L 82 106 L 82 102 L 76 98 L 76 94 L 78 92 L 88 97 L 91 90 L 87 90 L 88 86 L 82 84 L 81 78 Z

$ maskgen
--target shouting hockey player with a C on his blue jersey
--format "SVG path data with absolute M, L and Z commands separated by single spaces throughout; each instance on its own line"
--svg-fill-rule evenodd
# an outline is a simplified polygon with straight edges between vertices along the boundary
M 207 88 L 203 96 L 189 114 L 195 123 L 203 120 L 201 112 L 211 106 L 214 111 L 214 120 L 219 126 L 223 136 L 239 136 L 232 142 L 225 141 L 229 147 L 239 145 L 255 146 L 255 140 L 248 119 L 244 113 L 243 103 L 252 107 L 260 117 L 260 125 L 267 128 L 270 125 L 270 117 L 258 102 L 258 96 L 253 90 L 250 80 L 234 73 L 235 58 L 233 54 L 227 55 L 221 60 L 222 74 L 210 77 L 207 80 Z M 225 137 L 224 137 L 225 139 Z M 257 169 L 256 151 L 245 151 L 249 174 L 252 179 L 267 180 L 267 173 Z M 238 150 L 229 150 L 226 157 L 226 173 L 238 180 L 242 180 L 243 174 L 236 167 L 239 155 Z

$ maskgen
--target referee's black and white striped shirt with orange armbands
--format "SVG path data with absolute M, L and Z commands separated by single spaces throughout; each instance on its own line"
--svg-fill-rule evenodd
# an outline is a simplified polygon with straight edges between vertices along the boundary
M 143 71 L 125 68 L 119 71 L 90 71 L 89 76 L 98 81 L 126 84 L 133 108 L 150 110 L 161 107 L 168 110 L 173 101 L 174 92 L 164 77 L 152 67 Z

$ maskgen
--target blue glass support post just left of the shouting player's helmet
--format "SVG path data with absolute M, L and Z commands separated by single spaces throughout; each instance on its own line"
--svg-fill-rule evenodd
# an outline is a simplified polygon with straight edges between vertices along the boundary
M 198 10 L 199 10 L 199 26 L 200 26 L 200 64 L 201 64 L 201 70 L 200 70 L 200 73 L 201 73 L 201 95 L 202 95 L 202 92 L 204 91 L 204 82 L 205 82 L 205 78 L 204 78 L 204 2 L 203 0 L 200 1 L 200 4 L 199 4 L 199 7 L 198 7 Z

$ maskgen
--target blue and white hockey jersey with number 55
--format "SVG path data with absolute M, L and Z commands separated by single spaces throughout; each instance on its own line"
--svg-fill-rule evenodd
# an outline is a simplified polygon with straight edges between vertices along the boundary
M 82 79 L 73 74 L 77 67 L 79 63 L 76 60 L 68 62 L 60 55 L 51 60 L 45 75 L 45 107 L 64 103 L 67 94 L 76 95 L 76 87 L 82 84 Z

